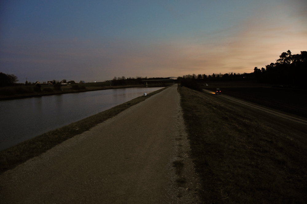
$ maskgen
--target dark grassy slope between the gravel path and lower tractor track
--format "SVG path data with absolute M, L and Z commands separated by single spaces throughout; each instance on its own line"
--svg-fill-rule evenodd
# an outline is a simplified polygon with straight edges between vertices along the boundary
M 306 203 L 307 135 L 178 88 L 204 203 Z

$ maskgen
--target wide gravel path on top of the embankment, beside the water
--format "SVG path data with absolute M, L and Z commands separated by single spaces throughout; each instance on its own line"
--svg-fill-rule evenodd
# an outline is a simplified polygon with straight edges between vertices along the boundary
M 196 203 L 177 85 L 0 176 L 1 203 Z M 177 175 L 173 161 L 183 160 Z M 186 183 L 176 179 L 181 176 Z

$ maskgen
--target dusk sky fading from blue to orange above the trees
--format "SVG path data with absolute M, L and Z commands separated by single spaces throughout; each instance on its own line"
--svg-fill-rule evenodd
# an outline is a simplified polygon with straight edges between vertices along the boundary
M 0 72 L 28 81 L 251 73 L 307 50 L 306 0 L 0 2 Z

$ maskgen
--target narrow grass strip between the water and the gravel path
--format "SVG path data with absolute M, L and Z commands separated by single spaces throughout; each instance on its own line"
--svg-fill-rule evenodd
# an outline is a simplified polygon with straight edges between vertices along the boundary
M 9 147 L 5 150 L 0 151 L 0 174 L 2 174 L 4 171 L 16 167 L 21 163 L 24 163 L 28 159 L 31 159 L 44 153 L 45 151 L 56 146 L 57 144 L 60 144 L 75 135 L 81 134 L 89 130 L 95 125 L 102 123 L 103 121 L 119 114 L 123 110 L 146 100 L 150 96 L 161 92 L 168 87 L 159 89 L 155 92 L 151 92 L 147 94 L 147 96 L 139 96 L 138 98 L 110 108 L 106 111 L 87 117 L 83 120 L 69 124 L 62 128 L 46 132 L 33 139 L 29 139 L 13 147 Z

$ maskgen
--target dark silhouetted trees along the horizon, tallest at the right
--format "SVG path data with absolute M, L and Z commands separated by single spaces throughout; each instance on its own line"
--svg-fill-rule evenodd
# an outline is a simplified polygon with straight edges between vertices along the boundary
M 301 51 L 301 54 L 292 55 L 291 51 L 283 52 L 276 63 L 266 65 L 266 68 L 254 68 L 252 73 L 213 73 L 212 75 L 206 74 L 188 74 L 178 77 L 178 80 L 191 79 L 197 81 L 241 81 L 241 80 L 258 80 L 260 82 L 268 82 L 271 84 L 287 84 L 298 87 L 306 87 L 305 76 L 307 76 L 307 52 Z M 141 84 L 142 80 L 159 80 L 164 77 L 114 77 L 111 82 L 112 85 L 133 85 Z M 0 86 L 12 86 L 16 84 L 18 77 L 14 74 L 5 74 L 0 72 Z M 53 80 L 55 81 L 55 80 Z M 56 81 L 58 82 L 58 81 Z M 58 82 L 59 83 L 59 82 Z M 31 82 L 25 85 L 32 84 Z M 44 83 L 43 83 L 44 84 Z

